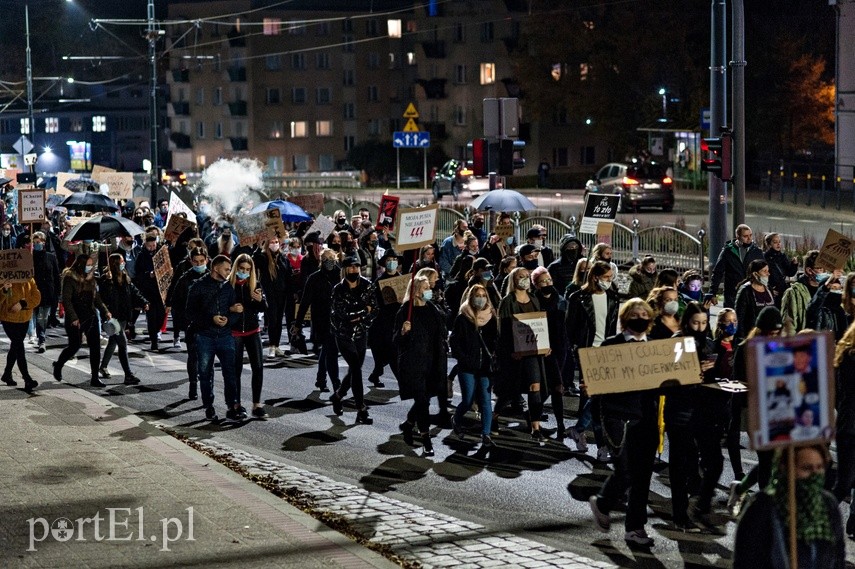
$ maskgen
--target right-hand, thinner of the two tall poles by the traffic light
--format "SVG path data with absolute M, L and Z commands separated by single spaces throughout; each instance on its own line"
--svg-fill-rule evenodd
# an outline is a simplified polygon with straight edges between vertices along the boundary
M 745 223 L 745 10 L 743 0 L 731 0 L 733 31 L 733 227 Z

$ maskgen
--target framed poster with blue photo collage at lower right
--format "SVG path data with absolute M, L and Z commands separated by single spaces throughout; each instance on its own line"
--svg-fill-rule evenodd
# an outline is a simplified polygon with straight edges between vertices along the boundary
M 754 450 L 826 442 L 834 432 L 832 332 L 748 343 L 748 439 Z

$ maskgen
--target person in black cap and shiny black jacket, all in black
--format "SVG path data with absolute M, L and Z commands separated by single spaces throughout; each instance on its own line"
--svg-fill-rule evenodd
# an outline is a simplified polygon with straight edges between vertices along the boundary
M 359 258 L 346 257 L 343 262 L 344 279 L 333 287 L 332 314 L 330 322 L 335 334 L 338 351 L 347 362 L 347 374 L 341 387 L 330 397 L 333 412 L 344 413 L 342 398 L 353 388 L 356 404 L 356 422 L 370 425 L 374 420 L 368 416 L 362 384 L 362 363 L 368 348 L 368 328 L 377 315 L 377 296 L 368 279 L 359 274 Z

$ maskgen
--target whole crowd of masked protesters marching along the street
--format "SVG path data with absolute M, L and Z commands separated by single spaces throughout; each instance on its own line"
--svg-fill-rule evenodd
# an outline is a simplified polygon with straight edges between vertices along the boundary
M 584 453 L 590 433 L 596 460 L 613 468 L 589 500 L 595 527 L 609 531 L 611 512 L 626 502 L 624 539 L 633 546 L 650 547 L 653 539 L 645 525 L 660 431 L 669 445 L 674 529 L 681 532 L 718 529 L 720 521 L 711 514 L 724 470 L 723 446 L 737 479 L 728 496 L 731 511 L 742 508 L 752 524 L 773 516 L 786 519 L 779 459 L 761 452 L 759 466 L 747 475 L 743 472 L 739 442 L 744 394 L 691 385 L 589 396 L 579 350 L 691 336 L 702 382 L 747 383 L 743 349 L 747 340 L 830 330 L 839 341 L 835 365 L 841 474 L 833 497 L 817 493 L 816 477 L 828 466 L 826 447 L 817 447 L 819 459 L 799 451 L 797 462 L 810 462 L 805 475 L 799 476 L 807 482 L 799 482 L 799 488 L 807 488 L 813 511 L 826 521 L 818 524 L 801 511 L 797 517 L 804 555 L 817 550 L 817 541 L 828 541 L 834 547 L 823 550 L 823 563 L 841 566 L 835 563 L 843 526 L 831 506 L 850 497 L 855 481 L 855 366 L 850 362 L 855 358 L 855 274 L 821 266 L 818 251 L 791 258 L 774 233 L 765 236 L 762 250 L 751 229 L 741 225 L 711 266 L 706 294 L 703 274 L 659 268 L 653 256 L 628 268 L 630 284 L 621 291 L 617 277 L 622 268 L 613 262 L 609 245 L 600 243 L 585 251 L 578 239 L 566 235 L 553 251 L 546 245 L 542 226 L 534 226 L 525 242 L 517 243 L 513 237 L 488 232 L 480 214 L 473 217 L 472 227 L 461 219 L 451 235 L 439 236 L 435 244 L 398 252 L 388 231 L 376 229 L 367 211 L 351 219 L 336 212 L 329 235 L 307 234 L 310 223 L 288 224 L 288 238 L 262 238 L 246 246 L 240 244 L 233 219 L 211 215 L 208 204 L 198 208 L 194 227 L 167 242 L 166 206 L 159 203 L 156 211 L 147 203 L 126 206 L 122 214 L 140 223 L 145 232 L 101 243 L 64 241 L 67 227 L 61 219 L 41 225 L 32 238 L 27 228 L 6 224 L 14 239 L 5 242 L 17 247 L 32 244 L 35 278 L 0 289 L 0 321 L 11 342 L 4 383 L 16 385 L 12 369 L 17 364 L 25 390 L 33 391 L 36 382 L 27 372 L 25 338 L 28 332 L 34 334 L 37 351 L 44 352 L 45 330 L 59 324 L 61 317 L 67 345 L 53 364 L 57 381 L 63 381 L 66 362 L 85 339 L 91 386 L 103 388 L 102 380 L 110 379 L 108 365 L 117 348 L 124 383 L 135 385 L 140 380 L 130 368 L 127 343 L 136 338 L 136 320 L 145 314 L 151 350 L 169 349 L 162 342 L 170 319 L 174 348 L 181 347 L 183 336 L 188 397 L 196 399 L 201 391 L 208 420 L 219 420 L 214 406 L 215 358 L 220 362 L 226 418 L 249 418 L 241 394 L 246 353 L 251 414 L 261 419 L 267 416 L 262 404 L 264 374 L 271 372 L 263 365 L 264 350 L 267 359 L 286 355 L 284 327 L 290 353 L 311 352 L 317 357 L 314 386 L 319 393 L 329 392 L 329 378 L 334 413 L 343 415 L 352 393 L 355 421 L 368 425 L 373 421 L 362 367 L 370 348 L 374 367 L 368 383 L 385 387 L 381 377 L 385 367 L 390 368 L 401 399 L 412 401 L 400 424 L 403 439 L 409 445 L 420 444 L 425 456 L 434 454 L 432 420 L 465 439 L 470 414 L 477 423 L 472 432 L 485 449 L 497 444 L 502 423 L 510 415 L 522 416 L 532 444 L 569 439 Z M 505 214 L 499 216 L 499 225 L 508 223 Z M 163 247 L 168 248 L 173 275 L 162 297 L 154 256 Z M 410 274 L 403 294 L 386 286 Z M 719 294 L 724 308 L 717 311 L 713 330 L 710 312 Z M 539 312 L 546 313 L 549 349 L 515 353 L 514 319 Z M 118 330 L 102 357 L 100 333 L 113 327 Z M 307 328 L 311 348 L 304 347 Z M 449 354 L 456 362 L 450 370 Z M 339 357 L 347 365 L 343 378 Z M 455 378 L 462 399 L 452 407 Z M 565 425 L 567 396 L 581 396 L 572 426 Z M 430 412 L 432 399 L 438 409 L 435 416 Z M 552 430 L 544 426 L 547 400 L 555 415 Z M 743 506 L 755 483 L 764 491 Z M 778 526 L 763 531 L 777 531 Z M 850 516 L 845 531 L 855 534 L 855 517 Z M 738 550 L 741 539 L 754 537 L 746 532 L 738 532 Z M 774 539 L 779 536 L 770 537 Z M 802 554 L 800 549 L 800 561 Z M 737 561 L 749 566 L 760 558 L 768 560 L 759 550 L 746 549 Z

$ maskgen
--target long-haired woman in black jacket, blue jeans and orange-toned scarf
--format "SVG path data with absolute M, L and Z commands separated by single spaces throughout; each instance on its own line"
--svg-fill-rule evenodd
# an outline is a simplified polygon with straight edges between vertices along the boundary
M 490 380 L 494 373 L 493 358 L 498 337 L 498 317 L 490 304 L 487 289 L 482 284 L 472 285 L 463 297 L 449 340 L 451 355 L 457 360 L 457 377 L 462 393 L 451 425 L 454 433 L 463 437 L 466 432 L 464 416 L 473 402 L 477 403 L 481 411 L 481 444 L 485 448 L 493 446 L 490 438 L 493 422 Z

